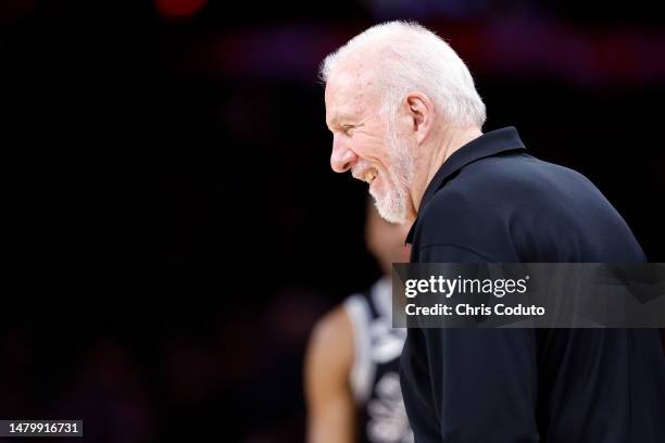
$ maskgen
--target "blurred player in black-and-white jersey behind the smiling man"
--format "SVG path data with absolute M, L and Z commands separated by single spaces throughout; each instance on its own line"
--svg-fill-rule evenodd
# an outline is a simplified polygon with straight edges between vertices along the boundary
M 409 260 L 407 227 L 367 203 L 365 241 L 384 276 L 314 327 L 305 358 L 309 441 L 412 442 L 399 379 L 405 329 L 392 328 L 392 263 Z

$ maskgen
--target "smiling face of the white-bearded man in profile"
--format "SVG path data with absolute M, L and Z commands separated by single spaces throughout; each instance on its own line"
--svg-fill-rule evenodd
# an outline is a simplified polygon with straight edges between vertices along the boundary
M 359 69 L 356 69 L 359 71 Z M 353 69 L 332 75 L 326 85 L 326 124 L 332 132 L 330 166 L 351 170 L 369 183 L 381 217 L 406 220 L 411 205 L 413 160 L 394 127 L 380 117 L 380 96 L 371 79 Z

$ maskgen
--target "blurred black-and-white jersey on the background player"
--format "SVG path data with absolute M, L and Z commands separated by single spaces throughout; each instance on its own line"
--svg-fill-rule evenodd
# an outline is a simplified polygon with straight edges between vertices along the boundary
M 359 441 L 413 442 L 399 375 L 406 330 L 392 328 L 390 279 L 349 296 L 343 306 L 353 325 L 350 384 L 359 412 Z

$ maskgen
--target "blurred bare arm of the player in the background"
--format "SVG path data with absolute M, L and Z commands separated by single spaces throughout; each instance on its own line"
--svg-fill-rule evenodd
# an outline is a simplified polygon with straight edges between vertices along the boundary
M 349 385 L 353 329 L 342 307 L 314 327 L 305 357 L 309 443 L 355 440 L 355 404 Z

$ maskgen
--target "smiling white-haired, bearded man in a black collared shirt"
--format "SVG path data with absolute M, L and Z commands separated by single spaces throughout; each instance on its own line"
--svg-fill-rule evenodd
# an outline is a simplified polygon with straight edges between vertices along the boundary
M 416 24 L 372 27 L 328 55 L 330 164 L 414 223 L 412 262 L 643 262 L 584 176 L 526 152 L 457 54 Z M 410 329 L 401 383 L 417 442 L 663 442 L 655 330 Z

